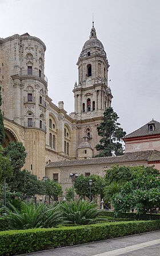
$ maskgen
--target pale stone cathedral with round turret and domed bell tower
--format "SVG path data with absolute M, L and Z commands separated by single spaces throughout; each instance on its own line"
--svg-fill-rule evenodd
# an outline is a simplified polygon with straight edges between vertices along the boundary
M 28 33 L 0 38 L 4 146 L 10 141 L 23 142 L 25 169 L 39 179 L 45 176 L 49 162 L 89 159 L 97 154 L 97 126 L 113 98 L 107 84 L 109 62 L 94 23 L 77 61 L 74 111 L 69 115 L 63 101 L 56 106 L 48 95 L 45 51 L 41 39 Z

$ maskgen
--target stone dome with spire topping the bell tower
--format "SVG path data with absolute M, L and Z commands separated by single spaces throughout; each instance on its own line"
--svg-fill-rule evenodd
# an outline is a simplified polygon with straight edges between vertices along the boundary
M 106 57 L 106 52 L 101 41 L 97 38 L 95 27 L 90 31 L 90 39 L 83 45 L 80 57 L 87 57 L 93 54 L 101 54 Z

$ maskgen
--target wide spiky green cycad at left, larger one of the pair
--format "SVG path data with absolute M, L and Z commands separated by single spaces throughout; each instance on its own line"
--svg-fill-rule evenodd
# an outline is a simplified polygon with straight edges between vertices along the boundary
M 10 204 L 9 220 L 10 229 L 33 229 L 35 227 L 53 227 L 62 222 L 61 212 L 57 207 L 46 206 L 45 204 L 21 202 L 21 209 L 18 210 Z

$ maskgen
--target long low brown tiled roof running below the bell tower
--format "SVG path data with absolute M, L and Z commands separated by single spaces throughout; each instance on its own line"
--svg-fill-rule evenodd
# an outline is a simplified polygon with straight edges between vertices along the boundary
M 67 166 L 83 166 L 83 165 L 103 165 L 109 163 L 125 163 L 135 161 L 160 161 L 160 151 L 157 150 L 143 150 L 127 152 L 118 157 L 98 157 L 91 159 L 80 159 L 70 161 L 49 162 L 46 168 L 49 167 L 67 167 Z

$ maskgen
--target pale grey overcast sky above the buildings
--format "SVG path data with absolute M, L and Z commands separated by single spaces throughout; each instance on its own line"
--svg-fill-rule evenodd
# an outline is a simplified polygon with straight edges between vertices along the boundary
M 69 114 L 93 13 L 121 127 L 128 134 L 153 118 L 160 122 L 159 0 L 0 0 L 0 37 L 27 32 L 45 43 L 49 97 Z

